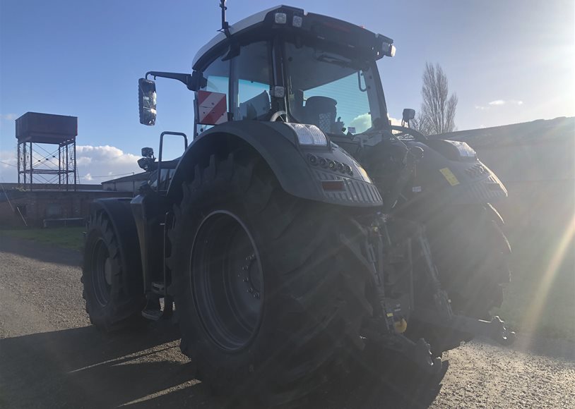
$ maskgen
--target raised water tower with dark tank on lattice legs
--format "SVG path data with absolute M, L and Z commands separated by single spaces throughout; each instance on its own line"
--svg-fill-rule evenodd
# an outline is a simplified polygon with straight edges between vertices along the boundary
M 78 118 L 26 112 L 16 119 L 18 185 L 33 183 L 76 190 L 76 135 Z

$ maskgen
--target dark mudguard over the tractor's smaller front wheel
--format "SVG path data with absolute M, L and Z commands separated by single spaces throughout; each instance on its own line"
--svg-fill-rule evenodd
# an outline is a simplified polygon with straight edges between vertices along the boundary
M 142 280 L 140 243 L 130 201 L 129 197 L 113 197 L 97 199 L 90 203 L 90 214 L 102 210 L 112 223 L 120 247 L 121 267 L 127 273 L 123 280 L 124 288 L 127 289 L 134 288 L 133 283 L 137 282 L 134 280 Z M 143 292 L 143 284 L 141 291 Z

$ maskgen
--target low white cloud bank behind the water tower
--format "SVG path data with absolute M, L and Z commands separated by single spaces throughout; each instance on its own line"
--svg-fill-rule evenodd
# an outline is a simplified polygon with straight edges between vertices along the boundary
M 76 166 L 80 183 L 101 183 L 108 179 L 140 173 L 137 161 L 140 157 L 126 153 L 121 149 L 104 145 L 77 145 Z M 58 166 L 58 159 L 49 158 L 47 164 Z M 0 174 L 5 182 L 16 182 L 17 173 L 16 149 L 0 151 Z

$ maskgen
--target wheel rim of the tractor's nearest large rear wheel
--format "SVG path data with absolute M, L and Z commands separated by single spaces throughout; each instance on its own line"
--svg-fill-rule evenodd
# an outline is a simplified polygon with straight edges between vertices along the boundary
M 245 348 L 263 310 L 263 274 L 246 226 L 229 212 L 203 220 L 191 252 L 196 310 L 211 340 L 225 350 Z

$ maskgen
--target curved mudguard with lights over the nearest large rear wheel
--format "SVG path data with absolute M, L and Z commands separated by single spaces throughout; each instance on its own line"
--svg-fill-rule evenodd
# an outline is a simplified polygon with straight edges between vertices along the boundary
M 244 145 L 261 155 L 282 188 L 291 195 L 353 207 L 382 204 L 381 195 L 362 166 L 338 145 L 304 147 L 297 143 L 290 126 L 262 121 L 227 122 L 199 135 L 179 161 L 168 188 L 169 200 L 179 201 L 182 183 L 194 174 L 194 167 L 200 161 L 206 161 L 211 154 L 226 154 Z M 348 171 L 342 171 L 341 166 L 331 169 L 330 162 L 348 165 Z

